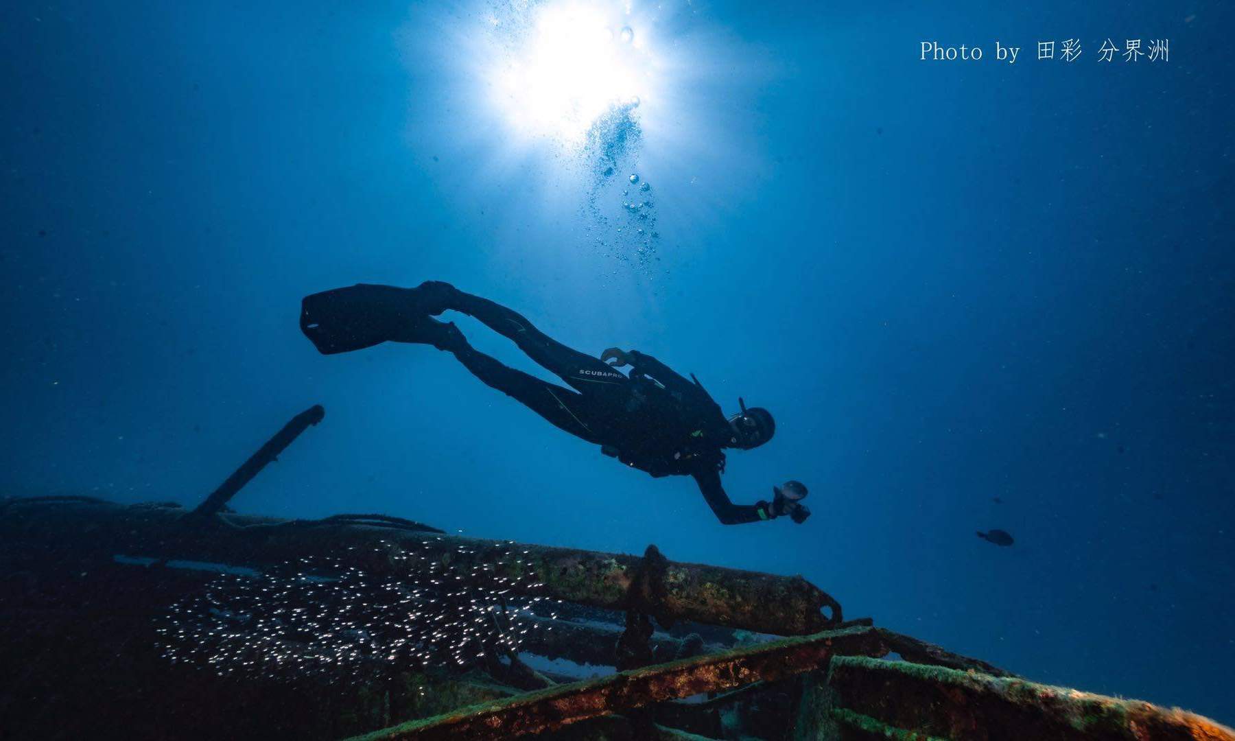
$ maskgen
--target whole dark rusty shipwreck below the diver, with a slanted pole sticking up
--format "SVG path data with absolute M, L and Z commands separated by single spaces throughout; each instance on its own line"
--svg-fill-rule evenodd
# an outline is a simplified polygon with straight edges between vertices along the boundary
M 374 514 L 0 500 L 0 737 L 1204 739 L 846 619 L 800 577 Z

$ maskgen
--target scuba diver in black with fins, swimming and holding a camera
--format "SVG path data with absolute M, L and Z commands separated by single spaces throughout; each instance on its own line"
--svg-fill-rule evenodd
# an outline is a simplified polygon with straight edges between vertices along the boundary
M 454 322 L 432 319 L 453 309 L 509 337 L 527 357 L 571 388 L 509 368 L 473 348 Z M 699 380 L 678 375 L 638 351 L 611 347 L 600 359 L 557 342 L 527 319 L 450 283 L 417 288 L 358 284 L 305 296 L 300 330 L 322 354 L 351 352 L 385 341 L 432 345 L 451 352 L 489 387 L 513 396 L 561 430 L 600 446 L 600 452 L 653 477 L 690 475 L 725 525 L 788 515 L 802 524 L 806 487 L 772 487 L 771 503 L 734 504 L 720 484 L 725 448 L 751 450 L 776 432 L 772 415 L 746 406 L 726 417 Z M 629 374 L 618 368 L 630 367 Z M 573 389 L 573 390 L 572 390 Z

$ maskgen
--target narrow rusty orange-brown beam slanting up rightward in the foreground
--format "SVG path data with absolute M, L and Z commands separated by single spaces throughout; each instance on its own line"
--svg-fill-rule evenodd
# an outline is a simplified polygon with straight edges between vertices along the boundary
M 540 734 L 653 703 L 719 692 L 753 682 L 774 682 L 809 672 L 832 656 L 882 656 L 882 636 L 853 627 L 784 638 L 724 653 L 620 672 L 600 679 L 527 693 L 487 705 L 393 726 L 361 736 L 364 741 L 437 739 L 494 740 Z

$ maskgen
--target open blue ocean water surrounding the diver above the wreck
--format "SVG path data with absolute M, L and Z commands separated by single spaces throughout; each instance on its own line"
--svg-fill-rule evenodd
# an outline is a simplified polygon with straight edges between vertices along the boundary
M 320 403 L 233 506 L 800 573 L 1235 722 L 1231 9 L 632 4 L 638 100 L 566 143 L 500 91 L 535 9 L 6 7 L 5 493 L 193 504 Z M 1104 63 L 1108 37 L 1170 58 Z M 771 409 L 726 489 L 799 479 L 813 517 L 722 526 L 446 353 L 322 357 L 296 326 L 308 293 L 426 279 Z

